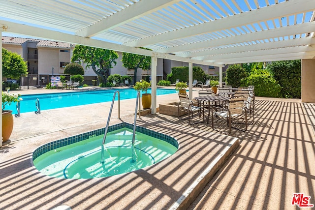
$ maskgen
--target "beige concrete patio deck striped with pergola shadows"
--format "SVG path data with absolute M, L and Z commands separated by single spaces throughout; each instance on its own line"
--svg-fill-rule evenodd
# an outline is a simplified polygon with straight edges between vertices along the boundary
M 168 98 L 158 96 L 158 104 Z M 127 106 L 130 100 L 124 103 L 122 120 L 132 122 L 134 108 Z M 176 155 L 155 167 L 94 180 L 49 178 L 32 167 L 32 150 L 43 142 L 104 127 L 109 106 L 106 102 L 47 110 L 14 119 L 11 142 L 0 150 L 1 209 L 58 205 L 80 210 L 172 208 L 224 147 L 229 150 L 226 146 L 234 139 L 205 123 L 189 126 L 176 117 L 148 115 L 137 120 L 138 125 L 170 134 L 181 144 Z M 247 132 L 232 129 L 231 136 L 239 138 L 240 146 L 192 205 L 183 208 L 296 209 L 291 199 L 297 192 L 311 196 L 310 203 L 315 203 L 314 104 L 256 97 L 255 110 L 255 123 Z M 121 122 L 114 113 L 111 124 Z

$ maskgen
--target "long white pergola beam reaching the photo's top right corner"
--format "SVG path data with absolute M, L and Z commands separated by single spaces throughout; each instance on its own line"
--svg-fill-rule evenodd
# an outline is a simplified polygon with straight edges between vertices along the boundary
M 126 45 L 143 47 L 171 40 L 186 38 L 198 34 L 230 29 L 231 26 L 233 28 L 236 28 L 239 26 L 267 21 L 278 17 L 284 17 L 287 15 L 298 14 L 312 10 L 315 10 L 315 5 L 312 0 L 303 1 L 303 3 L 298 0 L 290 0 L 252 10 L 249 12 L 244 12 L 238 15 L 232 15 L 226 18 L 217 19 L 215 21 L 210 21 L 196 26 L 183 28 L 181 30 L 169 31 L 167 33 L 158 34 L 152 37 L 146 37 L 145 39 L 135 40 L 126 43 Z

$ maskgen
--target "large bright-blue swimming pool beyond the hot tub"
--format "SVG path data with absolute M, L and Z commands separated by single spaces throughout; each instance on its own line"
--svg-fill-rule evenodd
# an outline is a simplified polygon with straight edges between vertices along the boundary
M 37 111 L 35 106 L 37 98 L 39 99 L 40 109 L 48 110 L 112 101 L 114 92 L 117 90 L 120 92 L 121 100 L 137 97 L 137 91 L 131 88 L 22 95 L 23 100 L 20 102 L 21 113 Z M 151 89 L 148 90 L 148 93 L 151 93 Z M 157 89 L 157 95 L 170 93 L 176 93 L 176 90 Z M 117 94 L 115 100 L 118 100 Z M 16 103 L 5 106 L 5 109 L 12 110 L 12 114 L 17 114 Z

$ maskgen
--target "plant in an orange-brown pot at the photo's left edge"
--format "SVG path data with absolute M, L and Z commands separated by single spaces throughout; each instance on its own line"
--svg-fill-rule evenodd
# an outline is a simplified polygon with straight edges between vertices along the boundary
M 21 94 L 2 91 L 2 141 L 10 138 L 13 130 L 13 115 L 11 110 L 4 110 L 6 105 L 22 101 Z

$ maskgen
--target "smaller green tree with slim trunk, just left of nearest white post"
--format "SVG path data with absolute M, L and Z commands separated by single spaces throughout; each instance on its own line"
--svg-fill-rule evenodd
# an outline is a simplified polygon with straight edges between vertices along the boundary
M 146 48 L 143 48 L 146 49 Z M 150 49 L 146 49 L 150 50 Z M 151 57 L 150 56 L 142 56 L 131 53 L 123 53 L 122 58 L 123 66 L 128 69 L 134 69 L 134 79 L 133 85 L 136 83 L 137 78 L 137 69 L 141 68 L 143 70 L 149 69 L 151 66 Z

